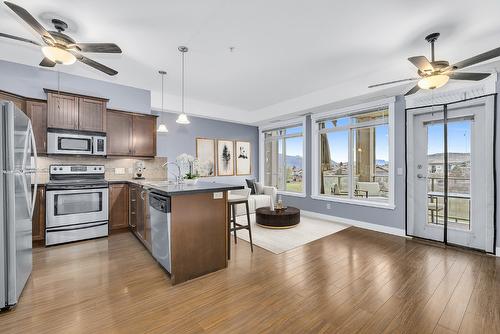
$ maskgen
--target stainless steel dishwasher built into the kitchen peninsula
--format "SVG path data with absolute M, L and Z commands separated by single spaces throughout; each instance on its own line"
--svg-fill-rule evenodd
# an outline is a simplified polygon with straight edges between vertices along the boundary
M 170 197 L 149 192 L 149 214 L 153 257 L 169 273 L 172 272 L 170 252 Z

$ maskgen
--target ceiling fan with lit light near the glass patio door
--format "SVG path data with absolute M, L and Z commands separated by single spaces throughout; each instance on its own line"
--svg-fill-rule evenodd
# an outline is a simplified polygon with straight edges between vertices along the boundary
M 456 72 L 456 70 L 461 70 L 463 68 L 499 57 L 500 47 L 450 65 L 450 63 L 446 60 L 435 59 L 434 43 L 438 39 L 439 35 L 440 34 L 436 32 L 425 37 L 425 40 L 431 44 L 431 61 L 429 61 L 425 56 L 408 58 L 408 60 L 418 68 L 418 77 L 384 82 L 368 86 L 368 88 L 418 80 L 417 84 L 405 94 L 411 95 L 415 94 L 420 89 L 435 89 L 442 87 L 446 85 L 450 79 L 479 81 L 490 76 L 491 73 L 466 73 Z

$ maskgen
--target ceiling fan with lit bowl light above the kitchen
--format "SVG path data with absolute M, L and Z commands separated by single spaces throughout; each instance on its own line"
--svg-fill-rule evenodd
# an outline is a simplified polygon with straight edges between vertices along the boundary
M 114 43 L 77 43 L 74 39 L 64 34 L 64 31 L 68 28 L 65 22 L 59 19 L 53 19 L 52 24 L 54 24 L 55 30 L 57 31 L 47 31 L 26 9 L 8 1 L 4 3 L 23 19 L 24 22 L 40 34 L 43 44 L 1 32 L 0 37 L 10 38 L 41 47 L 45 58 L 41 61 L 40 66 L 54 67 L 56 64 L 71 65 L 78 60 L 108 75 L 118 74 L 118 72 L 112 68 L 80 54 L 80 52 L 122 53 L 118 45 Z

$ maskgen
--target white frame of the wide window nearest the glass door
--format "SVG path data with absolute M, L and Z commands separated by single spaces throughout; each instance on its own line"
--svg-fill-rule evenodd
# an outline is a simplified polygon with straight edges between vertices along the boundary
M 313 114 L 311 116 L 311 128 L 312 128 L 312 136 L 311 136 L 311 153 L 312 153 L 312 175 L 311 175 L 311 182 L 312 182 L 312 189 L 311 189 L 311 198 L 318 199 L 318 200 L 324 200 L 324 201 L 331 201 L 331 202 L 338 202 L 338 203 L 347 203 L 347 204 L 354 204 L 354 205 L 361 205 L 361 206 L 370 206 L 370 207 L 378 207 L 378 208 L 384 208 L 384 209 L 395 209 L 394 205 L 394 192 L 395 192 L 395 177 L 394 177 L 394 171 L 395 171 L 395 154 L 394 154 L 394 110 L 395 110 L 395 103 L 396 103 L 396 98 L 391 97 L 388 99 L 383 99 L 383 100 L 378 100 L 374 102 L 369 102 L 369 103 L 364 103 L 364 104 L 359 104 L 359 105 L 354 105 L 342 109 L 337 109 L 335 111 L 328 111 L 324 113 L 319 113 L 319 114 Z M 327 120 L 330 118 L 339 118 L 343 116 L 353 116 L 356 114 L 363 114 L 363 113 L 368 113 L 370 111 L 374 111 L 375 109 L 379 108 L 387 108 L 388 109 L 388 132 L 389 132 L 389 196 L 387 202 L 376 202 L 376 201 L 369 201 L 369 200 L 363 200 L 363 199 L 357 199 L 357 198 L 351 198 L 351 193 L 353 192 L 353 186 L 352 186 L 352 169 L 353 169 L 353 159 L 352 155 L 352 142 L 349 140 L 349 198 L 340 198 L 340 197 L 335 197 L 335 196 L 329 196 L 329 195 L 324 195 L 320 193 L 320 178 L 321 178 L 321 164 L 320 164 L 320 134 L 321 133 L 328 133 L 331 131 L 328 131 L 329 129 L 319 129 L 318 122 L 322 120 Z M 365 127 L 365 126 L 370 126 L 372 124 L 377 124 L 380 123 L 379 121 L 373 121 L 373 122 L 366 122 L 363 123 L 362 126 L 358 127 Z M 385 124 L 385 123 L 384 123 Z M 338 127 L 336 128 L 336 131 L 341 130 L 342 128 L 347 129 L 349 131 L 349 138 L 352 137 L 350 132 L 356 128 L 351 125 L 346 126 L 346 127 Z

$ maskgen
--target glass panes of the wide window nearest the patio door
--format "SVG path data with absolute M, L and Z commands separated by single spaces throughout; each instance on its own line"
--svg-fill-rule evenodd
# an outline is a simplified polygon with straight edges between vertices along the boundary
M 316 121 L 320 195 L 389 202 L 389 110 Z

